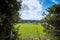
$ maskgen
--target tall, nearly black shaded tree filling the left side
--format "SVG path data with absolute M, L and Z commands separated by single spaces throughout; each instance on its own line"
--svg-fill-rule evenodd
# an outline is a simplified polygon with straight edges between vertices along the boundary
M 11 40 L 13 24 L 19 20 L 20 3 L 17 0 L 0 0 L 0 40 Z

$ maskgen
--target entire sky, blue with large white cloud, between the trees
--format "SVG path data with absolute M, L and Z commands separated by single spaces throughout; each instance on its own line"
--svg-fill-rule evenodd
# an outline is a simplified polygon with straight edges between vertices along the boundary
M 60 0 L 22 0 L 19 13 L 23 20 L 40 20 L 44 18 L 42 12 L 54 4 L 59 4 Z

